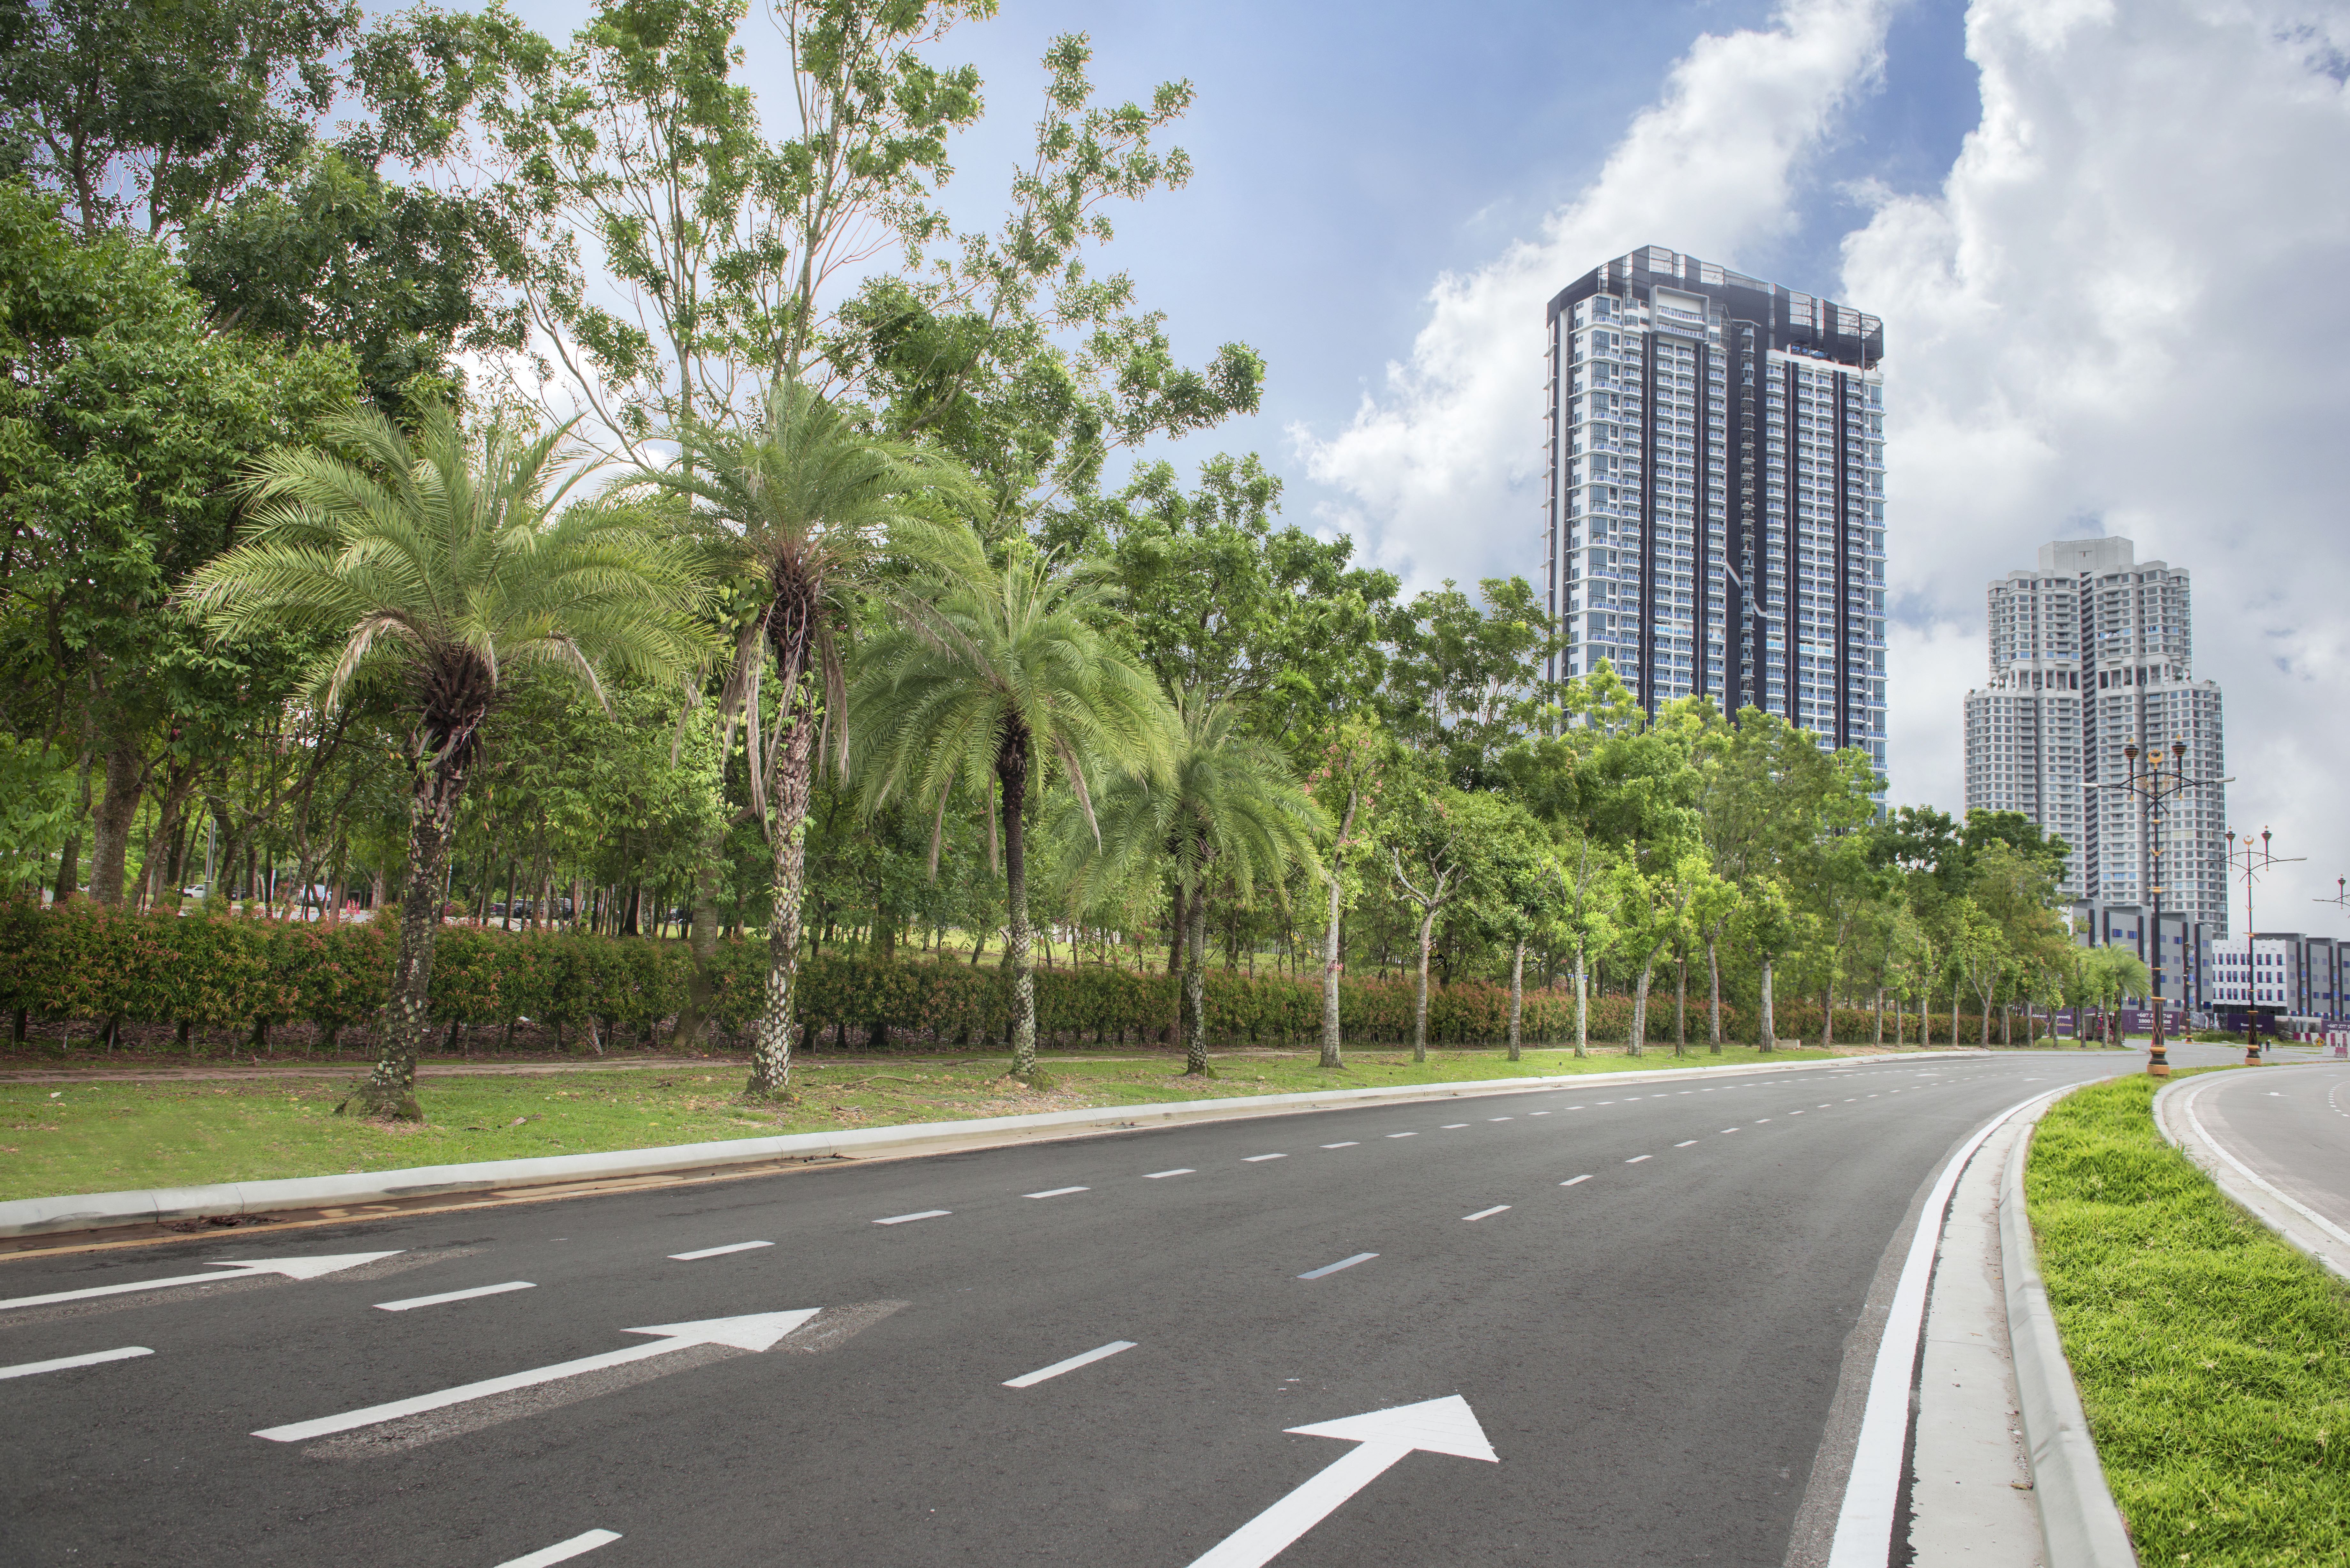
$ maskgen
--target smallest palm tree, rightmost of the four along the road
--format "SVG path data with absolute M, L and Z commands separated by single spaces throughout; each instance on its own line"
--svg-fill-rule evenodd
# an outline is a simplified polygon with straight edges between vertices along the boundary
M 1238 712 L 1201 693 L 1175 698 L 1173 766 L 1126 773 L 1095 804 L 1100 839 L 1093 853 L 1079 842 L 1079 891 L 1114 886 L 1161 858 L 1182 896 L 1182 1023 L 1184 1074 L 1208 1072 L 1208 882 L 1220 879 L 1243 900 L 1257 884 L 1283 886 L 1292 865 L 1318 879 L 1314 839 L 1330 825 L 1297 788 L 1290 764 L 1262 741 L 1236 733 Z M 1074 820 L 1072 820 L 1074 827 Z M 1072 837 L 1076 837 L 1072 832 Z

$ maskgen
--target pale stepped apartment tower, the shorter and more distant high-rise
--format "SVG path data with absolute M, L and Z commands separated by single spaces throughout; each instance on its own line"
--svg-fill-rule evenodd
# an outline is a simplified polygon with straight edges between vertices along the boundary
M 2138 562 L 2127 538 L 2040 545 L 2037 571 L 1990 585 L 1990 684 L 1967 693 L 1967 809 L 2021 811 L 2073 846 L 2061 893 L 2094 907 L 2146 905 L 2228 933 L 2221 785 L 2164 806 L 2160 877 L 2129 759 L 2169 766 L 2186 741 L 2193 778 L 2225 773 L 2221 693 L 2193 677 L 2188 574 Z

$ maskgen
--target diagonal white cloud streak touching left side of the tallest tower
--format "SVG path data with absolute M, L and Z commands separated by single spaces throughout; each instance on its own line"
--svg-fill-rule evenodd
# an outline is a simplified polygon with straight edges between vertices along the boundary
M 1791 176 L 1882 61 L 1885 0 L 1786 0 L 1772 26 L 1699 38 L 1598 179 L 1539 240 L 1445 275 L 1386 386 L 1330 440 L 1290 435 L 1342 501 L 1323 522 L 1412 585 L 1542 562 L 1542 308 L 1638 244 L 1727 266 L 1793 223 Z

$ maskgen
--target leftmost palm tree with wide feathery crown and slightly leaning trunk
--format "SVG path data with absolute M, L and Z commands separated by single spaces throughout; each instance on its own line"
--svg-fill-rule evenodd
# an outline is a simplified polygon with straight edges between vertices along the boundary
M 188 588 L 214 635 L 338 639 L 313 672 L 324 708 L 371 675 L 407 686 L 409 877 L 383 1051 L 360 1091 L 369 1114 L 421 1119 L 442 860 L 482 722 L 512 675 L 545 670 L 604 701 L 604 670 L 667 677 L 707 654 L 686 571 L 644 517 L 564 505 L 588 473 L 564 435 L 475 442 L 449 409 L 428 409 L 411 440 L 383 414 L 350 409 L 329 421 L 327 447 L 284 447 L 254 465 L 251 534 Z

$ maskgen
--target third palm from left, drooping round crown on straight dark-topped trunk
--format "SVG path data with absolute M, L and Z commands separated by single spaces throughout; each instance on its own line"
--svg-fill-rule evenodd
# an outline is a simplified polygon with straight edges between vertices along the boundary
M 865 752 L 865 806 L 895 797 L 931 813 L 931 875 L 947 799 L 961 785 L 987 813 L 987 863 L 1001 863 L 1010 929 L 1013 1072 L 1036 1072 L 1036 978 L 1029 966 L 1027 809 L 1041 790 L 1039 755 L 1060 762 L 1079 811 L 1093 823 L 1088 776 L 1147 773 L 1168 764 L 1168 705 L 1093 625 L 1109 590 L 1083 571 L 1015 557 L 985 571 L 975 536 L 931 604 L 902 599 L 902 618 L 865 654 L 851 693 Z

